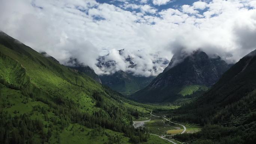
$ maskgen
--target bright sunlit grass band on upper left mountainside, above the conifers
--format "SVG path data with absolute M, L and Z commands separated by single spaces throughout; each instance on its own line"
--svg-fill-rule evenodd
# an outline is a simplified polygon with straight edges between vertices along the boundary
M 94 80 L 89 77 L 76 75 L 63 65 L 57 64 L 51 59 L 46 59 L 35 51 L 32 52 L 37 57 L 32 58 L 38 62 L 33 61 L 26 55 L 20 55 L 3 45 L 0 45 L 0 49 L 0 52 L 2 53 L 0 60 L 1 66 L 6 67 L 4 71 L 1 71 L 0 75 L 4 76 L 4 79 L 7 82 L 16 86 L 20 86 L 22 83 L 30 83 L 34 88 L 40 89 L 47 94 L 52 94 L 51 97 L 48 98 L 54 98 L 55 95 L 67 95 L 74 101 L 79 99 L 78 102 L 80 105 L 84 106 L 84 109 L 95 109 L 93 108 L 94 104 L 91 101 L 91 98 L 88 96 L 91 94 L 89 89 L 100 90 L 101 86 Z M 39 58 L 41 59 L 39 60 Z M 12 65 L 13 67 L 9 67 L 9 65 Z M 24 77 L 21 78 L 17 75 L 15 69 L 13 71 L 13 68 L 22 73 L 20 75 L 23 75 Z M 54 68 L 58 70 L 57 73 L 52 70 Z M 86 86 L 86 88 L 82 89 L 79 85 Z

